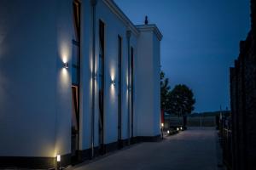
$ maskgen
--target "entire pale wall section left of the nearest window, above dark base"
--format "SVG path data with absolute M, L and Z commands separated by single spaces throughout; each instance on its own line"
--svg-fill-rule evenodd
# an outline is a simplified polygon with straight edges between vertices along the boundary
M 71 5 L 1 1 L 0 156 L 70 152 Z

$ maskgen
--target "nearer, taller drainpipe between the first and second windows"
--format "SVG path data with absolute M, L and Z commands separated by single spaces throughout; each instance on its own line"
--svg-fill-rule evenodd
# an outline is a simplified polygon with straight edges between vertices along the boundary
M 91 159 L 94 157 L 94 119 L 95 119 L 95 54 L 96 54 L 96 3 L 97 0 L 90 0 L 92 8 L 92 94 L 91 94 L 91 132 L 90 132 L 90 149 L 91 149 Z

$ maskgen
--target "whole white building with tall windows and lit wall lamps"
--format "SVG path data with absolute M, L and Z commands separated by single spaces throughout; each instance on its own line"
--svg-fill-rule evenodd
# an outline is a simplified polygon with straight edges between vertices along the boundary
M 0 167 L 160 139 L 160 40 L 112 0 L 0 2 Z

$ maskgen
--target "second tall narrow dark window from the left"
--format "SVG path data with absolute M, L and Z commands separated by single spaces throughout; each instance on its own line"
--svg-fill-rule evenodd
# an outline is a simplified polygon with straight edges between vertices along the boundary
M 102 20 L 99 22 L 99 144 L 100 144 L 100 153 L 104 154 L 104 23 Z

